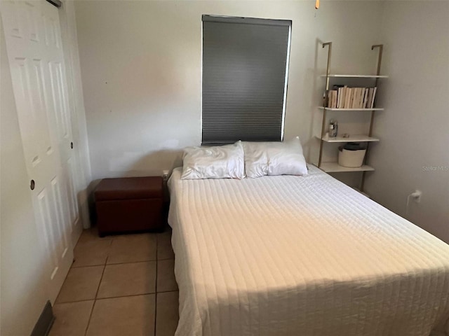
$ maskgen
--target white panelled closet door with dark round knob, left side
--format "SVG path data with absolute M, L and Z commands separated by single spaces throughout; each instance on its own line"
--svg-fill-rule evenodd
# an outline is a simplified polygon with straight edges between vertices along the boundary
M 77 206 L 71 125 L 58 8 L 46 1 L 1 1 L 15 104 L 51 302 L 73 260 Z M 26 232 L 24 232 L 26 234 Z

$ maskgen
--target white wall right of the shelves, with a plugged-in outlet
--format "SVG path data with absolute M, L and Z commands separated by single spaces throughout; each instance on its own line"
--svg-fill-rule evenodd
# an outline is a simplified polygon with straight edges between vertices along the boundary
M 366 190 L 385 207 L 449 243 L 449 1 L 386 1 L 382 72 Z M 442 170 L 431 167 L 441 167 Z

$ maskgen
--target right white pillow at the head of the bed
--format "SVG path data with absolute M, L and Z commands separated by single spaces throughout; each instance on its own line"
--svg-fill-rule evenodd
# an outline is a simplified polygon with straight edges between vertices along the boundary
M 284 142 L 243 142 L 245 173 L 264 175 L 307 175 L 299 137 Z

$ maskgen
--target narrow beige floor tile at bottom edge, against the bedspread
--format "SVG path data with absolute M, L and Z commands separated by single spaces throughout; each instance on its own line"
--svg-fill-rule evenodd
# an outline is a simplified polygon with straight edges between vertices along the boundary
M 178 292 L 158 293 L 156 302 L 156 336 L 175 335 L 179 320 Z

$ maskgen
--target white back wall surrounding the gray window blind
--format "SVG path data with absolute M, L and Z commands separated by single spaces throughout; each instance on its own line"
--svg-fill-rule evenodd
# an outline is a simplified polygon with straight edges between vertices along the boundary
M 200 144 L 202 14 L 293 20 L 285 136 L 307 148 L 324 86 L 319 41 L 333 41 L 334 71 L 375 71 L 382 2 L 76 1 L 93 179 L 159 175 Z

